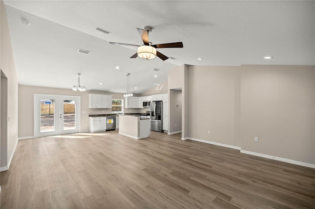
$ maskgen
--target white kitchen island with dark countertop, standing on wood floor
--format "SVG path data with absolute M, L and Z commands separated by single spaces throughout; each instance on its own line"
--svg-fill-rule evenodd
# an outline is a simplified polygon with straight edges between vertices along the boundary
M 140 115 L 119 115 L 119 134 L 134 139 L 149 137 L 150 119 Z

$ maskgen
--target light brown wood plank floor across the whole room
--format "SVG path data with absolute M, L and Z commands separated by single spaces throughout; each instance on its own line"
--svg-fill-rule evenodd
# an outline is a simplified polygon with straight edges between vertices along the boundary
M 18 142 L 1 209 L 315 208 L 315 169 L 151 131 Z

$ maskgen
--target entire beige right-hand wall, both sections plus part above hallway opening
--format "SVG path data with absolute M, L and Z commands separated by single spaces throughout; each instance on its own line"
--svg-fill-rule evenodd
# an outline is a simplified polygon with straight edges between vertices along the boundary
M 182 138 L 315 164 L 315 66 L 183 65 L 168 85 L 182 88 Z

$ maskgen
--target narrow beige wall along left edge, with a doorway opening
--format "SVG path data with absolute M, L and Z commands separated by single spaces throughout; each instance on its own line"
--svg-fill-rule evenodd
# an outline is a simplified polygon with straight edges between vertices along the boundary
M 3 0 L 0 12 L 0 59 L 1 71 L 7 78 L 7 165 L 13 157 L 14 149 L 18 140 L 18 81 L 15 70 L 13 50 L 9 33 L 9 26 Z

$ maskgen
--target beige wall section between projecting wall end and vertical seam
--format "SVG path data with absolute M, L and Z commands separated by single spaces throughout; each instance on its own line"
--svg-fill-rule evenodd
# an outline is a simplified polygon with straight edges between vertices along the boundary
M 240 147 L 240 70 L 188 66 L 189 138 Z

